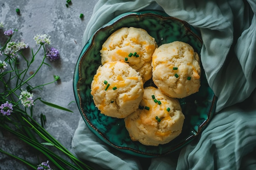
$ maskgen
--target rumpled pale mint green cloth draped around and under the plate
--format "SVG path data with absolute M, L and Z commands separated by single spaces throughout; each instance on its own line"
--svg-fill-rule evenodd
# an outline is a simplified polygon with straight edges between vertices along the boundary
M 99 0 L 83 45 L 115 16 L 142 9 L 164 10 L 200 30 L 202 65 L 218 97 L 216 113 L 201 136 L 175 154 L 146 160 L 147 169 L 256 170 L 256 1 Z M 79 158 L 106 169 L 145 169 L 141 159 L 106 146 L 82 118 L 72 146 Z

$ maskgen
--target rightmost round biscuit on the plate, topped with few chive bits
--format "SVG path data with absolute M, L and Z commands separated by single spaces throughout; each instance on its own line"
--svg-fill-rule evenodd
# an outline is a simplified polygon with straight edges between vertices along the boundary
M 162 44 L 152 56 L 153 82 L 166 95 L 183 98 L 200 88 L 200 59 L 184 42 Z

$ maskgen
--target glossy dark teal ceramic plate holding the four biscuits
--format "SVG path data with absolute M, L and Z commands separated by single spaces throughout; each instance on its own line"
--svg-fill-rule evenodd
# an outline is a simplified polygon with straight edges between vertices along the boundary
M 107 117 L 95 107 L 90 95 L 90 86 L 97 68 L 101 65 L 100 50 L 103 42 L 121 27 L 145 29 L 161 44 L 182 41 L 193 46 L 200 54 L 202 40 L 200 34 L 186 22 L 168 16 L 162 11 L 139 11 L 124 13 L 97 30 L 85 44 L 74 72 L 74 95 L 85 124 L 106 144 L 128 154 L 140 157 L 167 155 L 188 144 L 209 123 L 216 104 L 216 96 L 207 83 L 202 68 L 201 86 L 198 93 L 180 99 L 185 115 L 182 133 L 168 144 L 144 146 L 132 141 L 125 128 L 124 119 Z

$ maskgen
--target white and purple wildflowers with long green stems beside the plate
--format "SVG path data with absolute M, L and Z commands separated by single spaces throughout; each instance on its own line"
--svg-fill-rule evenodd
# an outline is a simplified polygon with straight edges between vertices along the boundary
M 3 24 L 0 23 L 0 29 Z M 9 29 L 4 31 L 3 36 L 7 36 L 7 42 L 0 46 L 0 133 L 1 131 L 8 131 L 15 135 L 21 141 L 25 142 L 45 157 L 47 161 L 42 160 L 39 165 L 30 163 L 29 161 L 13 155 L 0 148 L 0 152 L 9 155 L 27 166 L 36 170 L 51 170 L 50 165 L 58 170 L 91 170 L 92 168 L 84 162 L 77 159 L 72 153 L 67 150 L 60 142 L 58 142 L 52 135 L 44 129 L 45 115 L 40 115 L 40 124 L 33 118 L 33 109 L 36 107 L 36 102 L 42 102 L 47 106 L 56 109 L 72 112 L 67 108 L 63 108 L 56 104 L 44 101 L 40 97 L 34 99 L 33 91 L 42 89 L 42 86 L 60 81 L 60 77 L 54 75 L 54 81 L 46 84 L 32 86 L 31 79 L 38 73 L 40 68 L 46 64 L 45 58 L 51 61 L 59 59 L 59 51 L 54 47 L 46 49 L 46 45 L 51 44 L 50 36 L 48 34 L 38 34 L 34 36 L 38 49 L 36 52 L 31 49 L 32 56 L 30 59 L 23 55 L 23 50 L 28 48 L 25 40 L 13 40 L 12 37 L 17 29 Z M 28 74 L 29 68 L 33 64 L 36 55 L 40 50 L 44 51 L 42 62 L 31 74 Z M 20 60 L 26 63 L 26 68 L 19 66 Z M 27 76 L 29 75 L 29 76 Z M 61 151 L 68 160 L 64 159 L 54 151 L 52 147 Z

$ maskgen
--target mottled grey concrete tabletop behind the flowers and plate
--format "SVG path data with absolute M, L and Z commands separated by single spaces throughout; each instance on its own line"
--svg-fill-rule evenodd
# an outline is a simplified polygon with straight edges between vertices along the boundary
M 18 29 L 15 39 L 24 38 L 29 44 L 25 50 L 27 56 L 31 56 L 31 48 L 36 50 L 38 46 L 33 40 L 37 33 L 48 33 L 52 44 L 60 51 L 61 59 L 55 62 L 45 60 L 52 67 L 43 66 L 38 75 L 31 81 L 33 85 L 44 84 L 53 81 L 53 75 L 59 75 L 59 83 L 43 87 L 43 91 L 35 91 L 34 96 L 40 96 L 47 102 L 66 107 L 74 113 L 54 109 L 40 102 L 34 106 L 34 119 L 40 122 L 40 113 L 46 115 L 45 128 L 58 141 L 71 152 L 71 142 L 81 117 L 74 99 L 72 81 L 74 67 L 82 50 L 82 35 L 92 15 L 94 5 L 98 0 L 72 0 L 72 4 L 66 7 L 66 0 L 0 0 L 0 22 L 4 28 L 0 30 L 0 43 L 6 40 L 3 30 Z M 16 9 L 20 9 L 20 14 Z M 84 14 L 80 18 L 80 13 Z M 34 71 L 42 60 L 43 51 L 40 50 L 31 71 Z M 70 104 L 70 102 L 72 102 Z M 70 104 L 70 105 L 69 105 Z M 38 157 L 33 150 L 7 132 L 0 136 L 0 148 L 17 156 L 24 157 L 32 163 L 38 162 Z M 45 160 L 46 161 L 46 160 Z M 23 163 L 0 153 L 0 170 L 27 170 Z

